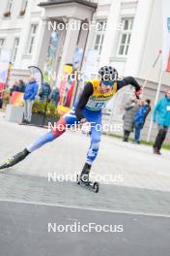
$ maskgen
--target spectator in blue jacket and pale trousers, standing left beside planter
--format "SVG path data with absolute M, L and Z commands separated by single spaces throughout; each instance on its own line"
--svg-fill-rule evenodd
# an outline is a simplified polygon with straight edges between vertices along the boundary
M 24 99 L 24 123 L 31 122 L 32 107 L 38 93 L 38 84 L 34 78 L 30 78 L 26 84 Z

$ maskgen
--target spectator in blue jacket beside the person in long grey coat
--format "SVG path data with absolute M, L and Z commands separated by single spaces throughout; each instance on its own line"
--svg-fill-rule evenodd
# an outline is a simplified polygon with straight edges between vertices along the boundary
M 151 112 L 151 100 L 141 101 L 140 109 L 134 115 L 134 143 L 140 144 L 140 134 L 144 127 L 146 118 Z

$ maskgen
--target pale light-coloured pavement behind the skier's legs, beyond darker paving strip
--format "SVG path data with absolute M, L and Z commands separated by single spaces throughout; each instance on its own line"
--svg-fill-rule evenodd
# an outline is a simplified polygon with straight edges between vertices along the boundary
M 28 144 L 47 130 L 32 126 L 20 126 L 6 122 L 0 114 L 1 161 Z M 89 138 L 68 131 L 61 138 L 31 154 L 25 161 L 12 168 L 14 174 L 44 176 L 56 172 L 60 175 L 79 174 L 89 147 Z M 124 180 L 110 180 L 110 184 L 170 191 L 170 152 L 162 150 L 162 156 L 154 155 L 152 147 L 126 144 L 118 139 L 103 136 L 99 157 L 93 172 L 97 175 L 123 176 Z M 112 178 L 113 179 L 113 178 Z

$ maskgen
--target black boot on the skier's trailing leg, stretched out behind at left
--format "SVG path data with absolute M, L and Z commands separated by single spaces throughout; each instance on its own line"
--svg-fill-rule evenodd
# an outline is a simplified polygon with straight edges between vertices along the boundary
M 10 168 L 22 161 L 30 152 L 25 148 L 13 157 L 8 158 L 3 164 L 0 164 L 0 170 Z

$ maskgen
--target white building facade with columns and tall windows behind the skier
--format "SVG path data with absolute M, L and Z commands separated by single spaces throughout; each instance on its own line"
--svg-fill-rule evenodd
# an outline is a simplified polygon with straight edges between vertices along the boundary
M 79 69 L 86 76 L 112 65 L 120 77 L 133 76 L 155 101 L 161 70 L 162 16 L 159 0 L 5 0 L 0 2 L 0 51 L 10 49 L 12 81 L 28 76 L 27 67 L 44 70 L 55 36 L 50 68 L 55 75 L 80 49 Z M 69 28 L 66 29 L 66 24 Z M 58 83 L 53 80 L 53 85 Z M 59 85 L 59 83 L 58 83 Z M 163 73 L 160 96 L 169 88 Z

